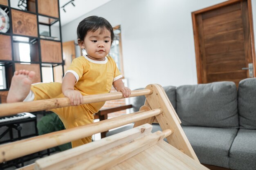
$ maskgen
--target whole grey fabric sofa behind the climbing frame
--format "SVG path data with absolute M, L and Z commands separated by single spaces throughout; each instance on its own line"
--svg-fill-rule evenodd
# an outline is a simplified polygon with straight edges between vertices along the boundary
M 238 90 L 234 82 L 166 86 L 164 90 L 201 163 L 213 169 L 256 170 L 256 78 L 240 81 Z M 134 97 L 134 111 L 144 101 L 144 96 Z M 157 130 L 161 128 L 153 124 L 153 132 Z

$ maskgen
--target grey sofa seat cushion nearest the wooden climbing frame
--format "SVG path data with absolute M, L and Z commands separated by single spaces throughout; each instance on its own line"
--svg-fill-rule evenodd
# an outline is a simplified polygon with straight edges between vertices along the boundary
M 229 149 L 237 129 L 182 126 L 200 163 L 229 168 Z

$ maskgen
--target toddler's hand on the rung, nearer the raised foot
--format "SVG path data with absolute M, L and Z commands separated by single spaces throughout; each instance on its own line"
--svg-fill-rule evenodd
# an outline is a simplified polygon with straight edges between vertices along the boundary
M 83 95 L 79 91 L 67 89 L 63 94 L 70 99 L 73 106 L 80 105 L 83 102 Z

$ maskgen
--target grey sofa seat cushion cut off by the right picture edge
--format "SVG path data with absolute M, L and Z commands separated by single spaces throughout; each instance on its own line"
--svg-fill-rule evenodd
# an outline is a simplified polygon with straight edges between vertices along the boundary
M 229 151 L 229 167 L 256 170 L 256 130 L 239 129 Z

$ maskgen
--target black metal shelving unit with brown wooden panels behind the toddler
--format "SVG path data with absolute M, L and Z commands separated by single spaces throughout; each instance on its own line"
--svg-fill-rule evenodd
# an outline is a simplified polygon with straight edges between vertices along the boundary
M 57 74 L 60 77 L 54 77 L 59 80 L 64 74 L 64 62 L 58 0 L 0 0 L 0 8 L 9 17 L 8 31 L 2 30 L 8 24 L 3 15 L 0 26 L 0 66 L 4 73 L 4 79 L 0 79 L 4 83 L 0 102 L 4 103 L 14 71 L 35 71 L 37 83 L 43 82 L 42 68 L 50 67 L 53 77 L 55 70 L 62 70 Z M 21 59 L 20 43 L 29 44 L 30 61 Z

